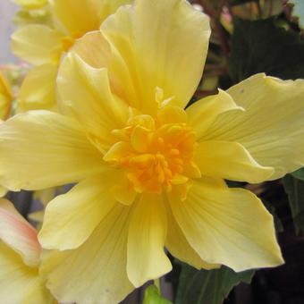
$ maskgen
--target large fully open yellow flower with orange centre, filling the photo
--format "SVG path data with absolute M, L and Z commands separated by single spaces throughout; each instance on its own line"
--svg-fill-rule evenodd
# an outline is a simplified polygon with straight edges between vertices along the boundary
M 114 303 L 171 270 L 283 263 L 272 216 L 248 190 L 304 161 L 304 81 L 264 74 L 188 104 L 209 21 L 185 0 L 139 0 L 81 38 L 58 76 L 63 114 L 0 127 L 0 182 L 79 182 L 46 207 L 42 266 L 63 302 Z

